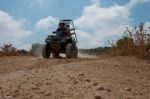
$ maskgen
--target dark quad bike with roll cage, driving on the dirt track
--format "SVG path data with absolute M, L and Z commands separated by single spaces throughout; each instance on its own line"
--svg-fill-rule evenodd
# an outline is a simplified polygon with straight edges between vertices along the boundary
M 77 36 L 72 20 L 60 20 L 65 23 L 65 28 L 70 33 L 70 36 L 63 36 L 61 31 L 52 32 L 53 35 L 48 35 L 42 47 L 43 58 L 49 58 L 52 54 L 54 58 L 59 57 L 60 53 L 66 54 L 69 59 L 78 57 Z M 59 25 L 58 25 L 59 28 Z

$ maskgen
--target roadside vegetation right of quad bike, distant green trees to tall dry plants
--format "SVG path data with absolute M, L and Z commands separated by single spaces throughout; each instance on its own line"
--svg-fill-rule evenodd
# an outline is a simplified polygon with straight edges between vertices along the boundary
M 136 56 L 150 59 L 150 27 L 146 28 L 141 23 L 134 29 L 127 28 L 121 39 L 110 44 L 111 47 L 80 49 L 79 51 L 96 55 L 111 54 L 113 56 Z

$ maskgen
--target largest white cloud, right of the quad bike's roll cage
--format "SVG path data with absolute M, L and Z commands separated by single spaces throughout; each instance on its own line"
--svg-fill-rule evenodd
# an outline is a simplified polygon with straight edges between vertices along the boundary
M 100 0 L 92 0 L 82 15 L 75 20 L 80 48 L 91 48 L 106 45 L 106 41 L 114 40 L 123 34 L 127 26 L 131 27 L 131 8 L 138 3 L 150 0 L 131 0 L 126 5 L 102 7 Z M 112 37 L 112 38 L 111 38 Z M 105 43 L 104 43 L 105 42 Z

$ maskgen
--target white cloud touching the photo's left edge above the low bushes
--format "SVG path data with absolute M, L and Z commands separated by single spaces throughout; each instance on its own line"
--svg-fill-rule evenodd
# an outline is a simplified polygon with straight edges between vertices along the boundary
M 0 10 L 0 45 L 4 43 L 13 43 L 15 46 L 21 44 L 22 47 L 26 45 L 22 39 L 31 35 L 32 32 L 24 29 L 24 24 L 24 20 L 14 19 L 13 16 Z

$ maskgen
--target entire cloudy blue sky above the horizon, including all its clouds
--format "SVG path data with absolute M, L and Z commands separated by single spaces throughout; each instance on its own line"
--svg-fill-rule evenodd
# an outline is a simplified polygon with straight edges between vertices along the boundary
M 0 0 L 0 44 L 29 49 L 44 43 L 59 19 L 69 18 L 75 21 L 80 48 L 105 46 L 126 26 L 149 24 L 149 10 L 150 0 Z

